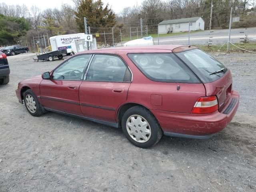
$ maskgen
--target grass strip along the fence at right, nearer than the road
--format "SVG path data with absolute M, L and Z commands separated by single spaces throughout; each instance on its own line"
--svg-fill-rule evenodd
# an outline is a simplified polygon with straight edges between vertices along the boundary
M 249 51 L 255 51 L 256 52 L 256 42 L 250 42 L 250 43 L 234 43 L 236 46 L 243 48 L 245 50 L 249 50 Z M 222 45 L 212 45 L 212 46 L 208 46 L 208 45 L 196 45 L 198 48 L 204 50 L 204 51 L 212 51 L 212 52 L 216 52 L 220 49 L 220 47 Z M 222 48 L 220 49 L 220 51 L 227 51 L 227 44 L 225 44 L 224 46 L 222 46 Z M 230 51 L 242 51 L 241 49 L 237 48 L 236 46 L 230 44 L 229 46 L 229 50 Z

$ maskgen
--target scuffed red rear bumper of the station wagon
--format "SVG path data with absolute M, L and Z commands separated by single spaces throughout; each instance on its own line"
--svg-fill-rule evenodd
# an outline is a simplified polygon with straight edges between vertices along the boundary
M 184 114 L 151 110 L 165 135 L 186 138 L 210 138 L 232 120 L 239 105 L 239 94 L 232 91 L 231 99 L 221 112 L 212 114 Z M 234 103 L 235 99 L 236 102 Z M 231 109 L 230 109 L 231 108 Z M 225 114 L 224 112 L 228 112 Z

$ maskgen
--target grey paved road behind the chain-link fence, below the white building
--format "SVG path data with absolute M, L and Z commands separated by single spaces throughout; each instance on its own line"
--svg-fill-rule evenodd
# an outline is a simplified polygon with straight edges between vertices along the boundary
M 256 28 L 239 28 L 232 29 L 230 32 L 231 42 L 240 42 L 248 36 L 250 41 L 256 41 Z M 202 32 L 190 34 L 190 44 L 223 44 L 228 41 L 228 29 L 222 30 L 205 30 Z M 158 38 L 154 38 L 155 44 L 158 44 Z M 160 37 L 159 44 L 188 44 L 188 34 L 175 35 L 169 37 Z

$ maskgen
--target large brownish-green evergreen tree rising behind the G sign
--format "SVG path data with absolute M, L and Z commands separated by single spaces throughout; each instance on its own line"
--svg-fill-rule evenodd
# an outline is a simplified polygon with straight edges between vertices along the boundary
M 102 0 L 81 0 L 75 16 L 80 32 L 84 32 L 84 17 L 91 28 L 111 28 L 116 24 L 116 14 L 108 4 L 104 7 Z

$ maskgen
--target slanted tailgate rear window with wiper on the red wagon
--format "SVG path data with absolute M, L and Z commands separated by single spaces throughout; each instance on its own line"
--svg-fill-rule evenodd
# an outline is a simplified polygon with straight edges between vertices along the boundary
M 176 55 L 195 72 L 203 83 L 216 81 L 228 71 L 221 62 L 200 49 L 183 51 Z M 212 74 L 214 72 L 217 73 Z

